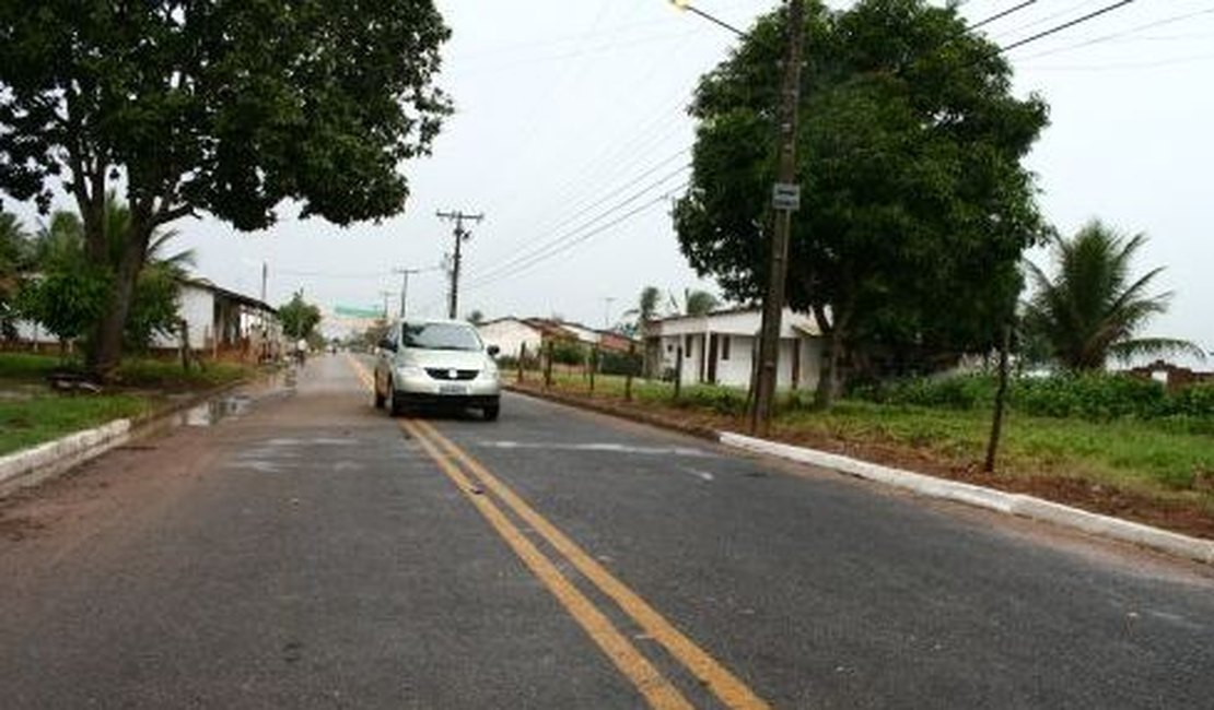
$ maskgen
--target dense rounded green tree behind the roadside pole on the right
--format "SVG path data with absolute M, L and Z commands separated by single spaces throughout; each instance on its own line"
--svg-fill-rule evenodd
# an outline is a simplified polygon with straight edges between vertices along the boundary
M 691 107 L 693 176 L 675 225 L 731 300 L 758 300 L 767 281 L 784 18 L 761 18 Z M 1045 234 L 1021 159 L 1046 109 L 1011 96 L 998 47 L 951 6 L 811 2 L 800 32 L 801 208 L 785 290 L 827 338 L 829 403 L 845 351 L 909 368 L 994 343 L 1020 257 Z

